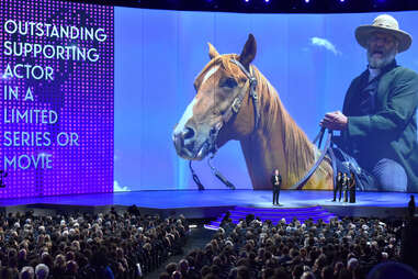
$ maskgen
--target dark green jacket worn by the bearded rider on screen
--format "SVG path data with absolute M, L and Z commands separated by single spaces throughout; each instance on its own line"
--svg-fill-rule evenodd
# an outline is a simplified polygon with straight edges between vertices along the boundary
M 382 158 L 399 163 L 408 177 L 408 191 L 418 192 L 418 75 L 394 62 L 382 69 L 379 78 L 375 111 L 370 115 L 358 115 L 357 110 L 369 70 L 351 82 L 342 109 L 348 116 L 342 149 L 366 170 Z

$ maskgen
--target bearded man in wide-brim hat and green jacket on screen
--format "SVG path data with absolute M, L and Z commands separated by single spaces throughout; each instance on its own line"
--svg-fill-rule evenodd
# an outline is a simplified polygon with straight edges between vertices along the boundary
M 366 49 L 368 69 L 351 82 L 342 113 L 327 113 L 320 125 L 341 131 L 336 143 L 371 178 L 365 190 L 416 192 L 418 75 L 395 60 L 413 37 L 382 14 L 359 26 L 355 38 Z

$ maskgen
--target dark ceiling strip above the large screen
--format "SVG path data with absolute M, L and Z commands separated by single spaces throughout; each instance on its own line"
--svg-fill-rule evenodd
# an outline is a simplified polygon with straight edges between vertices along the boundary
M 70 0 L 80 2 L 80 0 Z M 184 11 L 341 13 L 418 10 L 418 0 L 82 0 L 87 3 Z

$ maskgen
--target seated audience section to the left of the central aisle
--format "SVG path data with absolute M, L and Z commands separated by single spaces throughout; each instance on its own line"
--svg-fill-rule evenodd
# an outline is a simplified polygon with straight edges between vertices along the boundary
M 0 215 L 0 279 L 143 278 L 182 253 L 188 221 L 105 214 Z

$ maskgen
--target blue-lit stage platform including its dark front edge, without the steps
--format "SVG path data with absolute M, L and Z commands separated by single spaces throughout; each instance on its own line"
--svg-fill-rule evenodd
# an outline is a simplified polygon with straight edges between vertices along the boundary
M 321 207 L 338 216 L 403 216 L 410 193 L 358 192 L 357 203 L 332 202 L 331 191 L 282 190 L 281 209 Z M 103 212 L 111 207 L 125 209 L 137 205 L 143 213 L 162 216 L 184 214 L 187 217 L 217 217 L 236 207 L 276 208 L 271 191 L 253 190 L 167 190 L 114 193 L 71 194 L 58 197 L 2 199 L 3 212 L 32 209 L 35 211 Z

